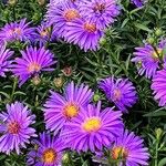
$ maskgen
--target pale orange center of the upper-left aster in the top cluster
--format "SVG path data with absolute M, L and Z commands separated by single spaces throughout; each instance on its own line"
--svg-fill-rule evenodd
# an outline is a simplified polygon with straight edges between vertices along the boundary
M 69 9 L 64 12 L 64 18 L 66 21 L 72 21 L 76 18 L 80 18 L 80 14 L 79 14 L 77 10 Z

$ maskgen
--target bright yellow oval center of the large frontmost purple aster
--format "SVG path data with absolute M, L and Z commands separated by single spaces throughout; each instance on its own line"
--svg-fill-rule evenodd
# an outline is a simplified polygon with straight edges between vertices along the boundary
M 98 117 L 91 117 L 91 118 L 87 118 L 83 124 L 82 124 L 82 128 L 85 131 L 85 132 L 96 132 L 101 128 L 102 126 L 102 122 Z

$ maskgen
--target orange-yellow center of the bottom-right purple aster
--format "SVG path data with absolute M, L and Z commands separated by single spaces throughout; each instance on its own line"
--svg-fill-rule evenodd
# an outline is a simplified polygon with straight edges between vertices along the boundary
M 127 156 L 128 156 L 128 152 L 122 146 L 117 146 L 112 149 L 113 159 L 118 159 L 118 158 L 125 159 Z

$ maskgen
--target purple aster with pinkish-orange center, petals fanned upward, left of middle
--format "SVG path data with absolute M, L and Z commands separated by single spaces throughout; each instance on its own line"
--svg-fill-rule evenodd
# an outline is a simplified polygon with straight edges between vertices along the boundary
M 53 71 L 50 68 L 55 63 L 53 54 L 44 48 L 27 48 L 21 51 L 22 58 L 17 58 L 11 65 L 14 75 L 19 76 L 20 86 L 31 76 L 38 75 L 41 71 Z

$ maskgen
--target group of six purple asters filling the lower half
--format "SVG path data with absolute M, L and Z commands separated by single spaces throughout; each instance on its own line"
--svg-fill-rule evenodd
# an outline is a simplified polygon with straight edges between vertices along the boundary
M 112 89 L 114 94 L 107 94 L 117 106 L 131 106 L 136 100 L 135 89 L 126 80 L 113 77 L 102 80 L 98 85 L 104 90 Z M 125 90 L 125 93 L 123 92 Z M 65 149 L 89 152 L 104 155 L 107 148 L 112 159 L 133 165 L 148 165 L 149 154 L 144 147 L 143 139 L 133 132 L 124 128 L 122 112 L 112 107 L 102 108 L 91 103 L 92 90 L 84 84 L 66 85 L 64 95 L 51 91 L 51 95 L 43 105 L 46 133 L 31 143 L 33 148 L 28 153 L 28 165 L 58 165 L 62 160 Z M 117 103 L 122 102 L 122 105 Z M 37 137 L 31 126 L 34 115 L 22 103 L 7 105 L 7 112 L 0 114 L 0 152 L 10 154 L 15 151 L 20 154 L 31 137 Z M 54 136 L 51 136 L 53 133 Z M 105 156 L 106 157 L 106 156 Z

